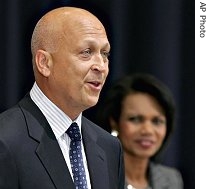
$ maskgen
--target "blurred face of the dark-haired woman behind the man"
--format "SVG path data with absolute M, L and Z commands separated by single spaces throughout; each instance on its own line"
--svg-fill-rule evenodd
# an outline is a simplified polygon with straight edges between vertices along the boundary
M 127 155 L 150 158 L 165 138 L 166 117 L 155 98 L 146 93 L 134 93 L 123 101 L 118 127 Z

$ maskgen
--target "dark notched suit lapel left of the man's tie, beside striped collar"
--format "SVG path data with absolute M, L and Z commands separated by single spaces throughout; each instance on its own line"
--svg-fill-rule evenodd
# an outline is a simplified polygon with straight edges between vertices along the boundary
M 36 154 L 57 189 L 73 189 L 74 184 L 54 133 L 29 95 L 20 103 L 29 135 L 39 142 Z

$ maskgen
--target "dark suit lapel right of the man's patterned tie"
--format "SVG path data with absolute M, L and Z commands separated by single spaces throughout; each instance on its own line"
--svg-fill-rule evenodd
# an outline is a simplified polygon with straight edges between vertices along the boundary
M 82 120 L 82 133 L 92 189 L 108 189 L 109 178 L 106 155 L 97 144 L 98 137 L 92 125 L 88 124 L 85 119 Z

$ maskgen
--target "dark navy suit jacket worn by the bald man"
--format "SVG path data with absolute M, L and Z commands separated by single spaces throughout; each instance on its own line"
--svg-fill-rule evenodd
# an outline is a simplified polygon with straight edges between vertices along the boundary
M 118 139 L 84 117 L 82 134 L 92 189 L 123 189 Z M 29 95 L 0 115 L 0 188 L 75 188 L 54 133 Z

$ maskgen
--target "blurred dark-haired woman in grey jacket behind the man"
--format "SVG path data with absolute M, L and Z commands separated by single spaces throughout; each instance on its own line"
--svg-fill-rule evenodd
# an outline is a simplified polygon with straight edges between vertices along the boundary
M 122 143 L 125 189 L 183 188 L 178 170 L 157 163 L 173 130 L 174 114 L 171 92 L 148 74 L 121 78 L 107 92 L 98 118 Z

